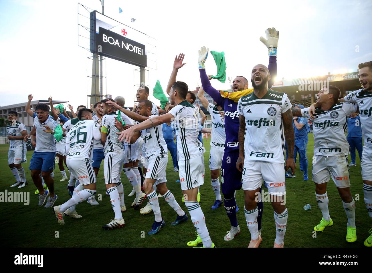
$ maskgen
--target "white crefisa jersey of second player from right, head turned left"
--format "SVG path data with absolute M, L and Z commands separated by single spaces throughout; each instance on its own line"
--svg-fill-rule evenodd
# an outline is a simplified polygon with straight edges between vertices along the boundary
M 301 109 L 303 117 L 310 118 L 309 107 Z M 355 112 L 355 103 L 338 103 L 328 111 L 315 109 L 312 121 L 314 133 L 314 155 L 345 156 L 350 153 L 350 146 L 346 140 L 347 117 Z

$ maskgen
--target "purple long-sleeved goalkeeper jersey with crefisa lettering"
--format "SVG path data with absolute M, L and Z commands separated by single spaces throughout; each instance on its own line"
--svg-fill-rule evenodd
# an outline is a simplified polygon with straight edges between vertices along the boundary
M 269 57 L 269 66 L 271 79 L 268 87 L 272 87 L 276 77 L 276 56 Z M 238 103 L 228 98 L 221 97 L 221 92 L 212 87 L 211 82 L 205 72 L 205 69 L 199 69 L 200 79 L 205 92 L 207 92 L 214 101 L 225 110 L 225 152 L 232 152 L 239 149 L 239 113 L 237 111 Z

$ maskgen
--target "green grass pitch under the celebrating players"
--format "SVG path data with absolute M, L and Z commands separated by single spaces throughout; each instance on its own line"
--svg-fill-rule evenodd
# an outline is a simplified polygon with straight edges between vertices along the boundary
M 238 223 L 241 234 L 233 241 L 225 242 L 224 235 L 230 230 L 230 221 L 227 218 L 223 206 L 212 210 L 211 205 L 215 201 L 215 195 L 211 188 L 210 172 L 208 168 L 209 141 L 204 141 L 206 152 L 204 154 L 206 172 L 204 185 L 201 186 L 200 205 L 206 218 L 206 225 L 212 241 L 217 247 L 247 247 L 250 241 L 250 233 L 244 217 L 244 194 L 237 191 L 236 199 L 240 210 L 237 212 Z M 159 199 L 161 214 L 166 226 L 156 235 L 147 235 L 154 221 L 154 214 L 141 215 L 139 210 L 130 208 L 134 197 L 128 197 L 132 186 L 125 175 L 122 175 L 124 185 L 125 204 L 127 211 L 123 212 L 125 227 L 116 230 L 103 230 L 102 225 L 107 224 L 114 214 L 110 205 L 109 196 L 105 195 L 106 188 L 103 180 L 103 163 L 97 178 L 96 199 L 99 205 L 92 206 L 87 202 L 77 205 L 77 212 L 83 216 L 80 219 L 65 217 L 65 225 L 58 224 L 52 209 L 38 207 L 37 196 L 34 195 L 30 171 L 28 169 L 32 151 L 27 152 L 28 163 L 24 163 L 28 186 L 22 189 L 10 188 L 15 179 L 7 166 L 7 152 L 9 145 L 0 145 L 0 166 L 1 179 L 0 191 L 29 191 L 30 204 L 23 203 L 0 203 L 0 222 L 2 224 L 3 239 L 1 246 L 5 247 L 187 247 L 186 242 L 194 240 L 195 229 L 189 220 L 178 226 L 171 226 L 170 223 L 176 219 L 176 213 L 163 198 Z M 357 241 L 347 243 L 346 237 L 346 214 L 344 212 L 341 198 L 333 181 L 328 183 L 329 211 L 334 226 L 326 228 L 323 233 L 317 233 L 314 238 L 313 228 L 321 220 L 321 211 L 315 200 L 315 186 L 311 181 L 311 162 L 313 150 L 313 136 L 309 134 L 307 155 L 309 161 L 309 181 L 302 180 L 302 172 L 299 165 L 296 169 L 296 178 L 286 179 L 286 206 L 288 208 L 288 224 L 285 234 L 285 247 L 364 247 L 363 241 L 368 237 L 368 230 L 372 227 L 368 217 L 362 189 L 362 177 L 360 175 L 360 161 L 357 156 L 357 166 L 350 168 L 351 192 L 356 199 L 356 227 Z M 169 158 L 171 156 L 169 154 Z M 298 160 L 297 160 L 298 163 Z M 67 201 L 70 196 L 67 192 L 67 181 L 59 182 L 61 173 L 56 165 L 54 176 L 55 193 L 58 200 L 55 205 Z M 178 179 L 178 173 L 173 171 L 172 160 L 169 160 L 167 167 L 167 187 L 176 197 L 177 202 L 184 211 L 185 204 L 181 201 L 182 191 Z M 264 188 L 266 191 L 266 188 Z M 99 200 L 98 194 L 102 195 Z M 359 198 L 356 197 L 359 195 Z M 144 202 L 142 207 L 147 203 Z M 311 209 L 305 211 L 304 205 L 311 204 Z M 58 231 L 59 236 L 56 236 Z M 262 220 L 262 243 L 260 247 L 273 247 L 275 239 L 275 224 L 273 210 L 269 202 L 264 203 Z

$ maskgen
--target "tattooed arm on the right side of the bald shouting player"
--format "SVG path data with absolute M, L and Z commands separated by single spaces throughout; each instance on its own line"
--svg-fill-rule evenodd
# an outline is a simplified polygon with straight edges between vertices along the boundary
M 295 108 L 292 108 L 292 109 L 295 109 Z M 298 110 L 300 110 L 300 114 L 301 114 L 301 109 L 298 109 Z M 294 129 L 292 126 L 292 118 L 293 118 L 292 110 L 289 109 L 288 111 L 283 113 L 282 118 L 283 118 L 285 141 L 287 142 L 287 147 L 288 147 L 288 159 L 287 159 L 287 162 L 285 163 L 285 170 L 288 170 L 289 168 L 291 168 L 292 173 L 294 174 L 296 170 L 296 163 L 293 159 L 293 149 L 295 146 L 295 133 L 294 133 Z

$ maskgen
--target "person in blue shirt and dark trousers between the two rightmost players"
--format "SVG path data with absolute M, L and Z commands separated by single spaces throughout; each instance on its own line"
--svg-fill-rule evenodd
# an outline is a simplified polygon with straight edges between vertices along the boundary
M 360 162 L 362 162 L 363 153 L 363 137 L 362 129 L 360 129 L 360 118 L 357 113 L 351 113 L 350 117 L 347 118 L 347 142 L 349 142 L 351 149 L 351 162 L 349 167 L 356 166 L 355 163 L 355 148 L 358 150 Z

